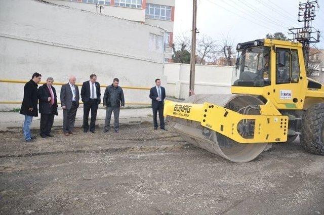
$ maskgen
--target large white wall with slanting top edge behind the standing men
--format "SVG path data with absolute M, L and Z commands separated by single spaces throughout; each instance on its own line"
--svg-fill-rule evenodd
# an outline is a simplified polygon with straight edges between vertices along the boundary
M 164 76 L 164 31 L 143 23 L 33 0 L 0 1 L 0 79 L 77 82 L 98 75 L 101 84 L 150 87 Z M 55 86 L 58 94 L 60 86 Z M 0 82 L 0 101 L 22 101 L 23 84 Z M 104 89 L 102 89 L 104 91 Z M 149 103 L 146 90 L 125 90 L 126 102 Z M 0 110 L 20 105 L 0 104 Z

